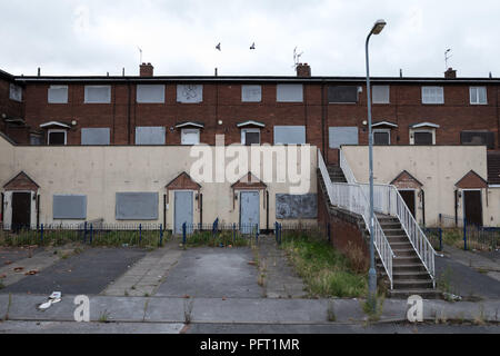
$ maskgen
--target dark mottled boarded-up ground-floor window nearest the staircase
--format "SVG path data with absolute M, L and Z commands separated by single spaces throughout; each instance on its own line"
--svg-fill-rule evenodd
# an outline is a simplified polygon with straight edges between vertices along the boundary
M 276 195 L 277 219 L 316 219 L 318 216 L 318 196 L 316 194 Z

